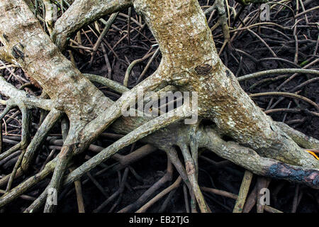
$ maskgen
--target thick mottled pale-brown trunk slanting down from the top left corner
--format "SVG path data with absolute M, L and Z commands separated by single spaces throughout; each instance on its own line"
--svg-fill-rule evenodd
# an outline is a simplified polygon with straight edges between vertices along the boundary
M 28 76 L 58 101 L 56 109 L 74 121 L 89 121 L 111 104 L 61 54 L 23 0 L 0 1 L 0 8 L 4 9 L 0 11 L 1 43 Z

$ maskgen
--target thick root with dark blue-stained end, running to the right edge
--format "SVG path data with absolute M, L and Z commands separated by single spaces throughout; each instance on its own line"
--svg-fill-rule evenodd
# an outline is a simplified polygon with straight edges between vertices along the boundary
M 205 129 L 205 133 L 201 135 L 200 140 L 203 147 L 256 175 L 286 179 L 290 182 L 319 188 L 319 170 L 316 168 L 289 165 L 268 157 L 262 157 L 250 148 L 242 147 L 232 141 L 225 142 L 211 128 Z

